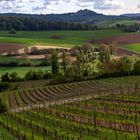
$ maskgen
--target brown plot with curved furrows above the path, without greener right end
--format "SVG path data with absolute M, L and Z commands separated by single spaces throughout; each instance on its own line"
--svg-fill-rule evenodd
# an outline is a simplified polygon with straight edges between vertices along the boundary
M 114 90 L 114 89 L 112 89 Z M 117 90 L 117 89 L 116 89 Z M 46 102 L 79 98 L 81 96 L 93 95 L 101 91 L 107 91 L 106 85 L 98 84 L 95 81 L 76 82 L 63 85 L 48 86 L 43 88 L 33 88 L 21 90 L 9 95 L 9 107 L 12 109 L 32 106 L 34 104 L 44 104 Z

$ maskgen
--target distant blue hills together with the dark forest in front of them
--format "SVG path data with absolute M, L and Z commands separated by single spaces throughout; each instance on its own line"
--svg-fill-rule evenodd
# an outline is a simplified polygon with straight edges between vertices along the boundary
M 80 10 L 65 14 L 0 14 L 0 30 L 91 30 L 97 29 L 99 22 L 127 20 L 124 16 L 108 16 L 90 10 Z

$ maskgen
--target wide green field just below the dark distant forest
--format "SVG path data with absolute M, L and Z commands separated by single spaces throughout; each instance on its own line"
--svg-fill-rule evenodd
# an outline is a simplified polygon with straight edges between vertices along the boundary
M 98 30 L 98 31 L 43 31 L 31 32 L 20 31 L 15 35 L 10 35 L 8 32 L 0 32 L 0 42 L 2 43 L 17 43 L 32 45 L 57 45 L 64 47 L 73 47 L 81 45 L 89 40 L 97 40 L 110 36 L 125 35 L 116 30 Z M 61 39 L 51 39 L 53 35 L 59 35 Z

